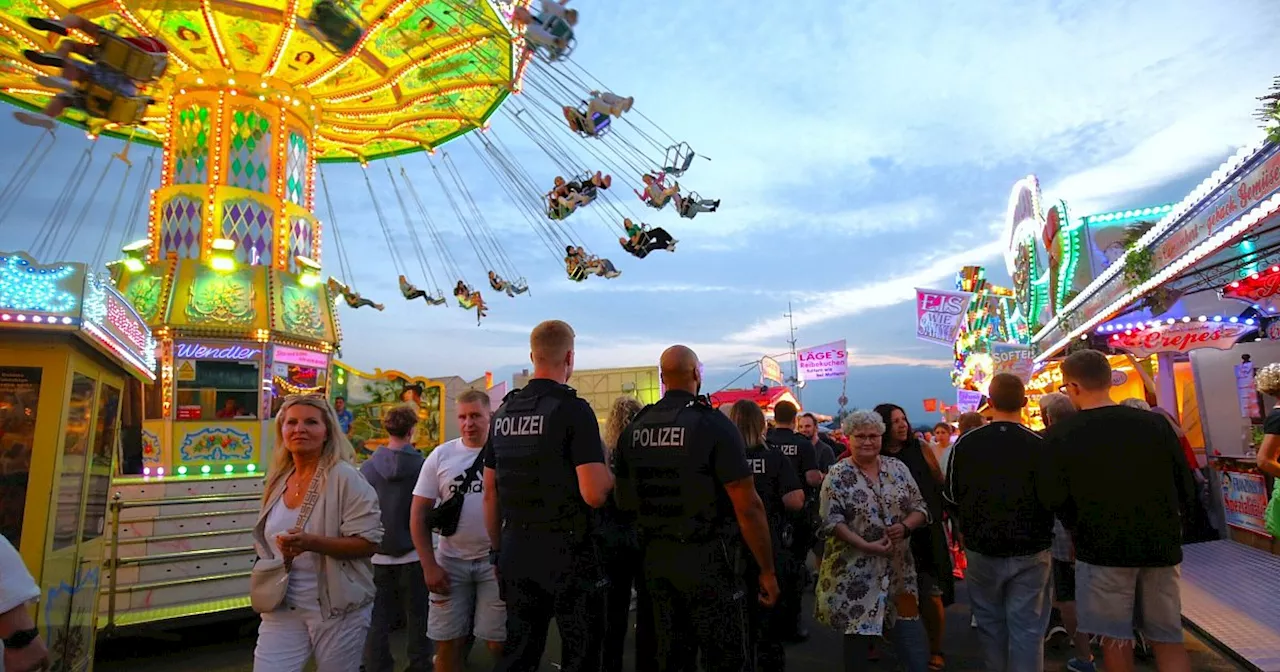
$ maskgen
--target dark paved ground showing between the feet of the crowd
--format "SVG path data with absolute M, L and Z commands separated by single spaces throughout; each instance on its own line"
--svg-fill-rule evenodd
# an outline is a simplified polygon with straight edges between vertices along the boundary
M 947 669 L 948 671 L 980 671 L 982 654 L 978 648 L 978 637 L 969 627 L 969 607 L 965 604 L 964 584 L 957 588 L 959 602 L 947 611 Z M 805 596 L 805 613 L 813 613 L 813 595 Z M 250 672 L 253 667 L 253 640 L 255 623 L 241 621 L 234 623 L 215 623 L 201 627 L 192 627 L 174 632 L 172 637 L 152 639 L 145 636 L 129 636 L 104 640 L 99 644 L 93 666 L 95 672 L 170 672 L 173 669 L 192 669 L 200 672 Z M 840 672 L 841 641 L 840 637 L 822 627 L 809 623 L 812 637 L 804 644 L 787 648 L 787 666 L 797 672 Z M 1202 641 L 1192 632 L 1187 632 L 1187 646 L 1192 652 L 1192 669 L 1196 672 L 1236 672 L 1245 669 L 1230 658 Z M 393 646 L 399 660 L 403 660 L 403 632 L 397 632 L 392 637 Z M 631 646 L 628 640 L 627 667 L 632 671 Z M 887 648 L 887 646 L 886 646 Z M 547 658 L 543 662 L 543 671 L 554 672 L 558 666 L 553 662 L 558 659 L 559 639 L 554 626 L 552 627 Z M 1068 646 L 1050 648 L 1047 650 L 1047 672 L 1065 672 L 1066 659 L 1070 657 Z M 180 666 L 178 663 L 180 662 Z M 488 654 L 476 648 L 467 664 L 470 671 L 488 671 L 493 664 Z M 1155 669 L 1155 664 L 1139 662 L 1138 669 Z M 397 668 L 399 669 L 399 667 Z M 892 659 L 886 655 L 879 663 L 879 669 L 896 669 Z

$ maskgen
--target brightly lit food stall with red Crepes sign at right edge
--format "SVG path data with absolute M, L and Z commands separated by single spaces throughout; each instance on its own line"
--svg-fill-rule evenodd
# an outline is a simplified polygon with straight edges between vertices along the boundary
M 1149 367 L 1160 407 L 1202 438 L 1204 497 L 1228 539 L 1183 548 L 1183 618 L 1224 649 L 1275 660 L 1280 622 L 1280 543 L 1262 524 L 1271 479 L 1256 451 L 1276 399 L 1253 372 L 1280 361 L 1271 301 L 1280 280 L 1280 146 L 1242 148 L 1181 202 L 1139 219 L 1111 247 L 1096 278 L 1032 338 L 1038 364 L 1076 347 L 1133 357 Z

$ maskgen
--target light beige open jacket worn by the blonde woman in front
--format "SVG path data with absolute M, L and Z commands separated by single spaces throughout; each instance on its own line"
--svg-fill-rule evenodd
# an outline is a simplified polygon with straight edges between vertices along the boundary
M 320 474 L 320 499 L 303 531 L 320 536 L 358 536 L 372 544 L 383 540 L 381 509 L 378 493 L 347 462 L 338 462 Z M 257 512 L 253 548 L 260 558 L 275 558 L 275 544 L 266 540 L 266 517 L 284 494 L 282 479 L 276 492 Z M 338 618 L 374 602 L 374 566 L 369 558 L 338 559 L 316 554 L 320 584 L 320 613 Z

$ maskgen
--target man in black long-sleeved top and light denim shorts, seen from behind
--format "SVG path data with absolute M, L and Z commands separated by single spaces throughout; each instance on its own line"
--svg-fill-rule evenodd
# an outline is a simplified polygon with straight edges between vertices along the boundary
M 1164 417 L 1111 401 L 1101 352 L 1068 357 L 1062 380 L 1080 412 L 1046 433 L 1048 502 L 1075 539 L 1079 630 L 1103 639 L 1106 669 L 1133 668 L 1135 621 L 1161 669 L 1190 669 L 1178 566 L 1196 486 L 1178 435 Z

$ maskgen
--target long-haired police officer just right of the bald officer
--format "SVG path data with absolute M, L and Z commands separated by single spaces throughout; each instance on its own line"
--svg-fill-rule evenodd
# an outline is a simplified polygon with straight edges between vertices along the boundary
M 746 443 L 746 462 L 751 465 L 755 492 L 764 503 L 773 539 L 773 557 L 785 548 L 783 536 L 790 536 L 791 522 L 787 511 L 804 508 L 804 488 L 796 477 L 791 462 L 773 445 L 764 440 L 764 412 L 750 399 L 739 399 L 728 411 L 728 419 L 737 425 L 742 442 Z M 760 568 L 754 563 L 748 567 L 748 584 L 753 585 Z M 778 627 L 773 625 L 776 609 L 755 605 L 748 609 L 751 621 L 751 650 L 755 652 L 755 669 L 759 672 L 782 672 L 787 667 L 782 652 L 782 639 Z

